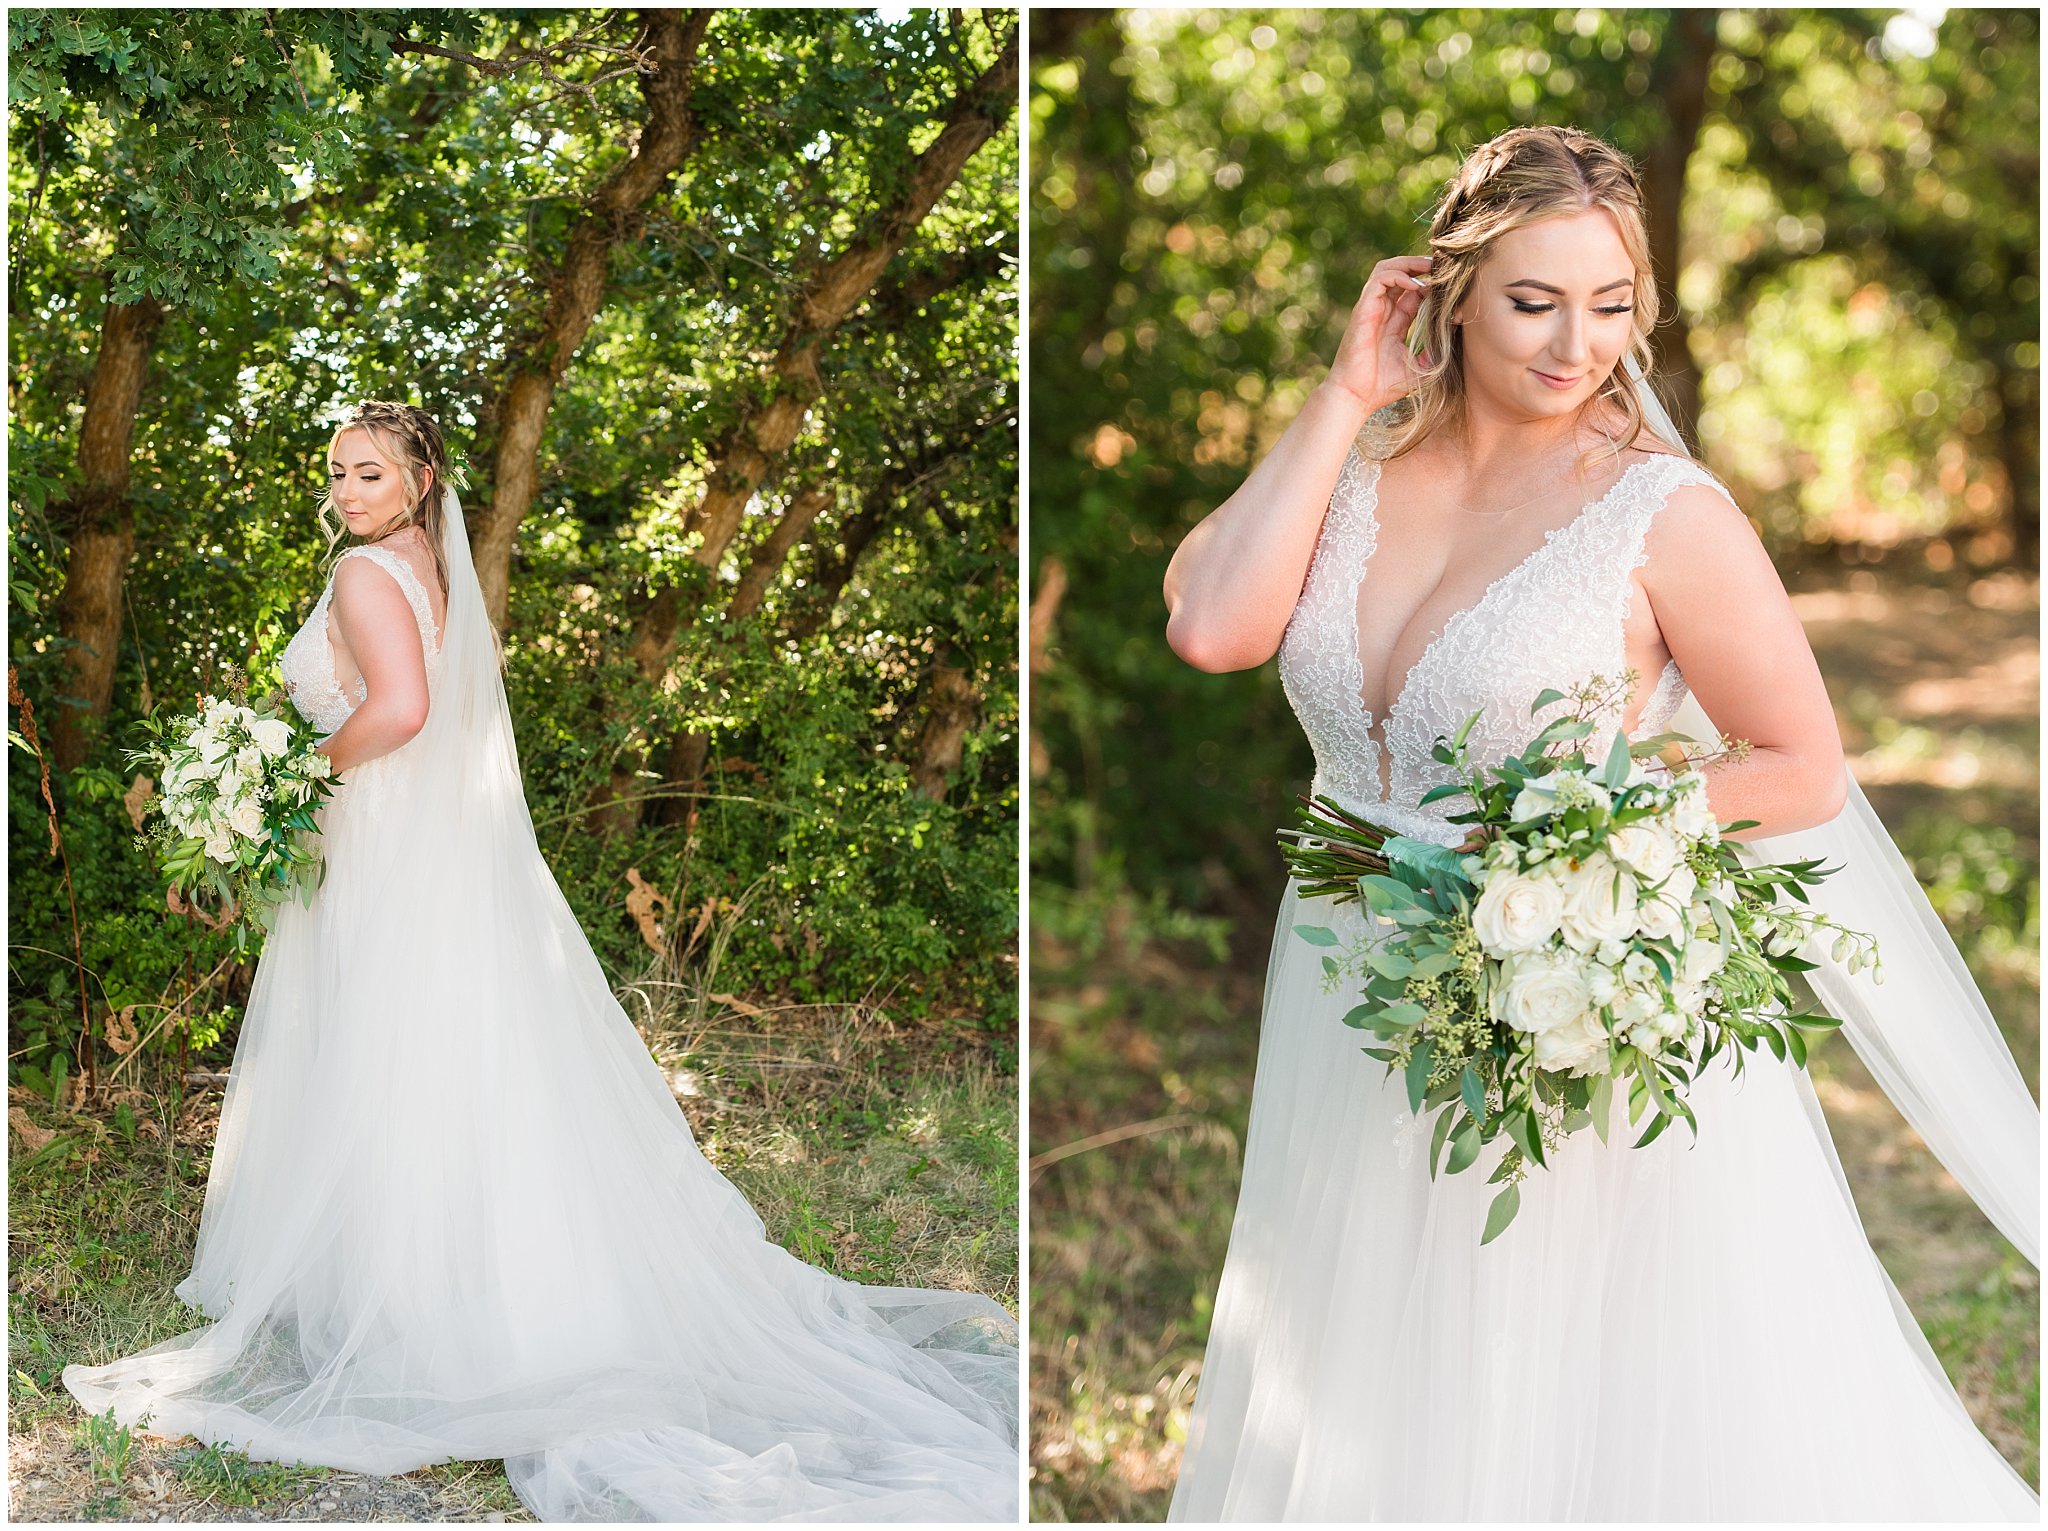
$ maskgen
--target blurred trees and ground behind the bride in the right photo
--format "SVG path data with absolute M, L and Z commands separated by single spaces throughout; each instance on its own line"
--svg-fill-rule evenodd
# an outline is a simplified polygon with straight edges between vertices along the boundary
M 2038 1077 L 2038 16 L 1040 10 L 1030 18 L 1038 1519 L 1161 1519 L 1200 1382 L 1311 759 L 1159 579 L 1464 149 L 1642 166 L 1673 413 L 1767 540 L 1851 766 Z M 1858 1206 L 2038 1480 L 2038 1277 L 1845 1046 Z M 1817 1298 L 1825 1300 L 1825 1298 Z

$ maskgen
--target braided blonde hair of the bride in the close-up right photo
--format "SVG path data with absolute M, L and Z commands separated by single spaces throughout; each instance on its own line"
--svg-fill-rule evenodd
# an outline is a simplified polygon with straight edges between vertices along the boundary
M 1636 268 L 1628 354 L 1642 377 L 1649 377 L 1657 280 L 1651 274 L 1651 235 L 1636 168 L 1612 143 L 1575 127 L 1511 127 L 1466 156 L 1430 219 L 1423 352 L 1432 362 L 1421 368 L 1417 387 L 1393 405 L 1389 424 L 1395 456 L 1438 426 L 1456 424 L 1464 409 L 1464 340 L 1450 315 L 1473 289 L 1493 244 L 1509 229 L 1595 207 L 1614 215 L 1622 248 Z M 1626 450 L 1642 434 L 1638 387 L 1622 364 L 1595 395 L 1614 403 L 1628 422 L 1616 450 Z

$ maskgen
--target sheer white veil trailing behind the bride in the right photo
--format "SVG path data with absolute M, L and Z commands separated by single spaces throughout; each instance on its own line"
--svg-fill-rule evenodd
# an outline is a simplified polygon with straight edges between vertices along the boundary
M 1628 358 L 1628 375 L 1642 401 L 1645 424 L 1692 456 L 1634 358 Z M 1700 741 L 1720 737 L 1690 694 L 1669 727 Z M 1851 974 L 1821 944 L 1802 952 L 1819 964 L 1806 978 L 1827 1011 L 1841 1017 L 1855 1056 L 1907 1124 L 1999 1232 L 2038 1267 L 2040 1107 L 1956 942 L 1855 776 L 1849 776 L 1841 813 L 1825 825 L 1749 839 L 1745 854 L 1761 862 L 1823 858 L 1841 868 L 1815 890 L 1812 903 L 1849 929 L 1876 937 L 1884 982 L 1872 982 L 1868 972 Z M 1919 1337 L 1917 1324 L 1913 1335 Z

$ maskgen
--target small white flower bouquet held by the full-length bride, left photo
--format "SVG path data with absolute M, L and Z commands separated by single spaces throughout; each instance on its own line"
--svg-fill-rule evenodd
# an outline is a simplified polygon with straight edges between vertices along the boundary
M 233 688 L 238 694 L 244 690 Z M 274 698 L 203 696 L 197 712 L 147 716 L 150 745 L 131 770 L 160 782 L 143 804 L 141 845 L 154 851 L 174 899 L 211 892 L 236 923 L 236 950 L 289 896 L 311 899 L 324 862 L 309 843 L 313 813 L 334 790 L 317 733 Z

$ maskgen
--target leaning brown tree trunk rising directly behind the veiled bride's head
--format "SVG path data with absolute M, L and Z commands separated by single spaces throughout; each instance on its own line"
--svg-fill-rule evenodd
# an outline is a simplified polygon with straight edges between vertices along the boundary
M 612 250 L 641 235 L 647 205 L 696 141 L 690 115 L 690 86 L 698 45 L 711 25 L 711 10 L 649 10 L 655 72 L 639 76 L 647 102 L 633 154 L 604 178 L 569 227 L 567 250 L 553 268 L 547 307 L 539 327 L 506 364 L 508 381 L 485 407 L 489 424 L 489 501 L 471 522 L 483 604 L 502 628 L 512 589 L 512 544 L 520 522 L 532 510 L 541 483 L 541 436 L 555 403 L 555 387 L 569 370 L 590 323 L 604 307 L 604 287 Z

